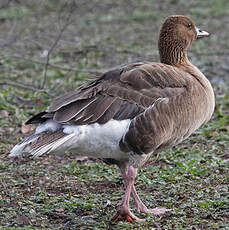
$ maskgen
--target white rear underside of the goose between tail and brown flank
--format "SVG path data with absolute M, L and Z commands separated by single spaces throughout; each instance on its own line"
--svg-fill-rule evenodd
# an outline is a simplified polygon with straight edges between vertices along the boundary
M 63 125 L 63 132 L 72 135 L 62 146 L 73 153 L 95 158 L 125 159 L 128 154 L 119 148 L 119 141 L 126 132 L 130 119 L 110 120 L 106 124 Z

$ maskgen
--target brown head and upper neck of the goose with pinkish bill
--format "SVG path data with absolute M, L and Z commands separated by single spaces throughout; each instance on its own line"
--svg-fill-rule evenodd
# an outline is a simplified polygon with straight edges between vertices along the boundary
M 169 16 L 162 25 L 158 40 L 161 62 L 175 66 L 187 64 L 187 49 L 190 44 L 207 36 L 209 33 L 197 28 L 188 17 Z

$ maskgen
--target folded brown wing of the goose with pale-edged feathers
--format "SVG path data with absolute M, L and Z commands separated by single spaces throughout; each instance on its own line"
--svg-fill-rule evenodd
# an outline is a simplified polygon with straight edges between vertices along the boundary
M 185 75 L 176 67 L 160 63 L 126 65 L 57 98 L 47 111 L 35 115 L 27 124 L 50 118 L 75 125 L 133 119 L 158 98 L 182 94 L 187 84 Z

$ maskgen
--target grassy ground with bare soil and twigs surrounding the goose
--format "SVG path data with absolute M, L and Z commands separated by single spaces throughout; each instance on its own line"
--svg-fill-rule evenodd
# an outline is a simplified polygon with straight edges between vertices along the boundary
M 172 211 L 111 224 L 123 195 L 115 167 L 70 153 L 7 156 L 30 131 L 23 122 L 54 97 L 111 67 L 159 61 L 159 29 L 171 14 L 212 34 L 189 57 L 214 86 L 215 113 L 139 172 L 144 202 Z M 0 229 L 229 229 L 228 22 L 228 0 L 1 0 Z

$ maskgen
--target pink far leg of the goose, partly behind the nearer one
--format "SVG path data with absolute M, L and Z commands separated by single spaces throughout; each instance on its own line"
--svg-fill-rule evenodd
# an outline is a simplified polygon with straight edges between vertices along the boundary
M 139 198 L 134 185 L 132 186 L 132 197 L 138 212 L 150 213 L 152 215 L 162 215 L 165 212 L 170 211 L 170 209 L 163 208 L 163 207 L 148 209 Z

